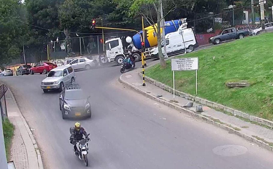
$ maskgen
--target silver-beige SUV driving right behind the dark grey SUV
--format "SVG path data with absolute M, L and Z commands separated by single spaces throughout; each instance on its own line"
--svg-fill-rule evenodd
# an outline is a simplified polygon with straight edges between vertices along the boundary
M 57 89 L 61 92 L 64 85 L 69 83 L 75 84 L 76 79 L 76 74 L 71 65 L 56 67 L 50 70 L 46 76 L 46 79 L 42 80 L 41 83 L 41 88 L 45 93 L 52 89 Z

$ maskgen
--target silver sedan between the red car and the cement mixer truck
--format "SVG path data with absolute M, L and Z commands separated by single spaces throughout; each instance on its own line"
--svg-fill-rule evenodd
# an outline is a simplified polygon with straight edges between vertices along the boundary
M 68 65 L 71 65 L 74 70 L 89 70 L 92 67 L 97 67 L 97 60 L 92 60 L 88 58 L 78 58 L 71 61 Z

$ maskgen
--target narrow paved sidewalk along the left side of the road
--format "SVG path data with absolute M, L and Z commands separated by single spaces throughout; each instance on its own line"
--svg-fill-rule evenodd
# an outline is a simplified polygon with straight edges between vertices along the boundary
M 6 92 L 7 116 L 15 126 L 10 159 L 16 169 L 43 169 L 40 150 L 10 89 Z

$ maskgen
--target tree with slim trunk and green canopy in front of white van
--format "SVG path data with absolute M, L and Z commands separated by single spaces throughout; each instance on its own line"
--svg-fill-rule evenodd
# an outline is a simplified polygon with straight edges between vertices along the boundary
M 129 16 L 143 16 L 156 32 L 158 42 L 158 55 L 162 68 L 166 68 L 166 62 L 161 49 L 161 20 L 178 7 L 187 7 L 193 0 L 115 0 L 118 7 L 128 8 Z M 167 7 L 164 15 L 161 16 L 161 5 Z M 158 26 L 159 25 L 159 26 Z

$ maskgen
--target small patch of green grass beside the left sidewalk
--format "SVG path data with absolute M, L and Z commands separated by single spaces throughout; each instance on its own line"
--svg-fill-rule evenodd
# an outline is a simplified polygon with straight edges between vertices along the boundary
M 5 142 L 7 159 L 9 159 L 10 145 L 11 145 L 11 141 L 12 141 L 12 137 L 14 133 L 14 126 L 12 123 L 10 123 L 10 121 L 7 118 L 4 119 L 2 125 L 3 125 L 4 142 Z

